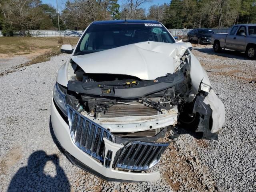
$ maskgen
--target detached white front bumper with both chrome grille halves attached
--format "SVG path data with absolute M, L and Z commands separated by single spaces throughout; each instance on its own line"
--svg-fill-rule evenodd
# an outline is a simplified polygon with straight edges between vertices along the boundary
M 118 144 L 113 134 L 71 106 L 68 106 L 68 117 L 70 126 L 52 101 L 54 134 L 67 157 L 80 168 L 108 181 L 143 182 L 160 178 L 159 172 L 145 173 L 144 170 L 160 161 L 168 143 L 129 141 Z

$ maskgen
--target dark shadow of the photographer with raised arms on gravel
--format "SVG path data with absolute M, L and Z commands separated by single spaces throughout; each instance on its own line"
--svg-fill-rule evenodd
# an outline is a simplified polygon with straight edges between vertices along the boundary
M 55 176 L 44 173 L 46 162 L 51 161 L 55 166 Z M 48 156 L 44 151 L 33 152 L 28 158 L 28 166 L 22 167 L 16 172 L 8 192 L 18 191 L 70 191 L 70 183 L 64 170 L 59 165 L 56 154 Z

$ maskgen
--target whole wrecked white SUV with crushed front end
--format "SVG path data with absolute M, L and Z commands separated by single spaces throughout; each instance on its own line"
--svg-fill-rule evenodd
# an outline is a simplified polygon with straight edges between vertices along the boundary
M 191 44 L 190 44 L 191 45 Z M 108 181 L 154 181 L 178 122 L 217 139 L 224 105 L 188 46 L 157 21 L 93 22 L 58 71 L 51 120 L 66 156 Z

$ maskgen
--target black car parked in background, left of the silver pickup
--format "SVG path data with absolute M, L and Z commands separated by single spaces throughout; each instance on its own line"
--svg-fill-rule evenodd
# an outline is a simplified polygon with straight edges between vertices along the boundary
M 188 42 L 195 41 L 198 44 L 211 43 L 212 34 L 214 32 L 210 29 L 193 29 L 188 32 Z

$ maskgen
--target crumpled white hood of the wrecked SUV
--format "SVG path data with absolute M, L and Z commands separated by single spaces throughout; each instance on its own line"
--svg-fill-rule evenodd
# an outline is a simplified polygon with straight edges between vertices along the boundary
M 186 50 L 183 43 L 140 42 L 71 58 L 86 73 L 125 74 L 153 80 L 174 73 Z

